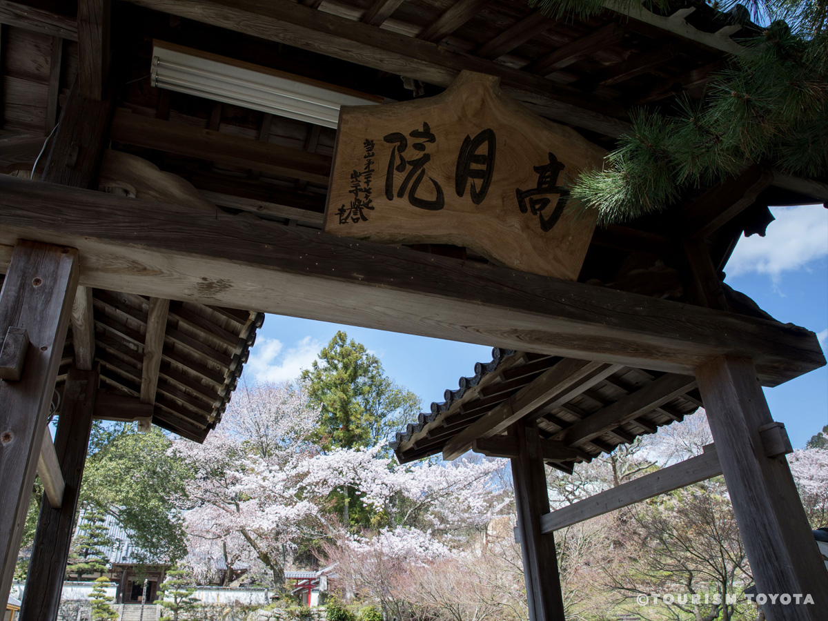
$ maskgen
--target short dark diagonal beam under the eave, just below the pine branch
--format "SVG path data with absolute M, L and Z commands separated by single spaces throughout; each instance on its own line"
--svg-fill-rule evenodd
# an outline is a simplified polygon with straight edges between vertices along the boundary
M 750 166 L 738 176 L 720 181 L 685 207 L 687 236 L 709 237 L 753 205 L 772 183 L 773 173 L 760 166 Z

